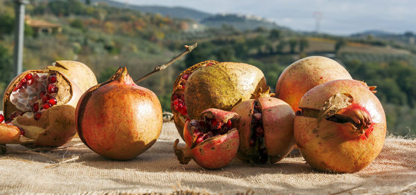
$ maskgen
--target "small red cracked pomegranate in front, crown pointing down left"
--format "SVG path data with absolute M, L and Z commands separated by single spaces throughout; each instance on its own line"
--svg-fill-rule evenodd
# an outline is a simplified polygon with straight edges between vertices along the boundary
M 206 169 L 219 169 L 231 162 L 239 149 L 239 133 L 232 128 L 237 116 L 234 112 L 209 108 L 200 114 L 200 120 L 192 119 L 184 126 L 186 146 L 173 149 L 180 164 L 193 159 Z

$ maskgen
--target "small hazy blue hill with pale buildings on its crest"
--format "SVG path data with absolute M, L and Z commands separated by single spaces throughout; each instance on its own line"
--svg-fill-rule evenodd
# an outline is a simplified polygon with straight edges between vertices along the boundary
M 223 26 L 223 24 L 226 24 L 240 30 L 255 29 L 259 27 L 283 28 L 275 22 L 270 22 L 262 17 L 236 14 L 218 14 L 202 19 L 200 23 L 213 27 L 220 27 Z

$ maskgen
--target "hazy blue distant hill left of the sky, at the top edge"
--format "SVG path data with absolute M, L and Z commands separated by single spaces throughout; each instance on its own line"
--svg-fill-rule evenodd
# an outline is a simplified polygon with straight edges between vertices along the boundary
M 201 19 L 211 16 L 211 14 L 207 12 L 201 12 L 198 10 L 184 7 L 136 6 L 132 4 L 121 3 L 119 1 L 110 0 L 93 0 L 93 2 L 103 2 L 107 3 L 107 5 L 109 6 L 114 6 L 118 8 L 131 8 L 133 10 L 139 10 L 141 12 L 158 13 L 163 16 L 170 16 L 181 19 L 193 19 L 197 22 L 199 22 Z

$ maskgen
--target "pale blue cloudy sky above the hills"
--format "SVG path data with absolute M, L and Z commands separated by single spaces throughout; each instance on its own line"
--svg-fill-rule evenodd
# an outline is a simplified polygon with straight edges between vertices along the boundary
M 320 33 L 349 35 L 367 30 L 390 33 L 416 32 L 415 0 L 117 0 L 147 6 L 182 6 L 203 12 L 258 15 L 297 31 L 315 31 L 320 13 Z

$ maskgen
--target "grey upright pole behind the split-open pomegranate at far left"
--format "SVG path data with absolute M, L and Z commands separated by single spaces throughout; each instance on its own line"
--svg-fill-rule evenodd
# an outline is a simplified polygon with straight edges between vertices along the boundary
M 21 74 L 23 69 L 23 40 L 24 40 L 24 6 L 29 3 L 27 0 L 15 1 L 15 53 L 13 56 L 15 64 L 15 75 Z

